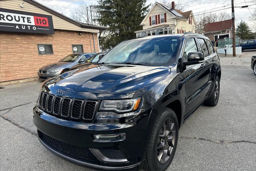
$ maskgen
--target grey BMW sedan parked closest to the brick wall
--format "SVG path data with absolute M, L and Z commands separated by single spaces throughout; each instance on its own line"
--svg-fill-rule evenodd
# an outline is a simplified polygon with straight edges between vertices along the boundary
M 38 77 L 42 80 L 59 76 L 79 63 L 86 62 L 89 58 L 94 56 L 95 53 L 82 53 L 82 54 L 70 54 L 65 58 L 62 58 L 59 62 L 48 64 L 38 70 Z

